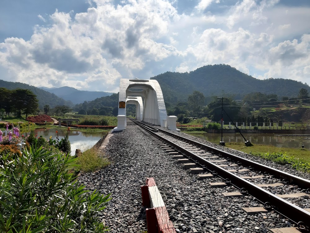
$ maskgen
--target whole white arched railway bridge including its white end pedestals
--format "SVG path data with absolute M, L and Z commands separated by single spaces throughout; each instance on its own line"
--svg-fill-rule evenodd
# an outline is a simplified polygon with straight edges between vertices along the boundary
M 167 117 L 162 89 L 157 80 L 120 80 L 117 127 L 114 131 L 126 129 L 127 104 L 136 105 L 137 120 L 180 131 L 175 126 L 177 117 Z

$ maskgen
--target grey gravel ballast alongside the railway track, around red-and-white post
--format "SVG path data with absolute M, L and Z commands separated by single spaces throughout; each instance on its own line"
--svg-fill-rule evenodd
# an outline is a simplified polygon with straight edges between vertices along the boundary
M 83 173 L 79 181 L 89 190 L 112 194 L 112 200 L 101 214 L 111 232 L 142 233 L 147 230 L 140 189 L 147 177 L 154 177 L 177 232 L 267 232 L 270 228 L 291 226 L 288 219 L 274 212 L 248 216 L 241 207 L 262 205 L 252 197 L 225 198 L 221 193 L 237 190 L 233 186 L 210 188 L 208 182 L 223 182 L 218 177 L 196 180 L 196 175 L 187 174 L 171 155 L 130 122 L 126 130 L 113 132 L 105 153 L 111 165 L 100 171 Z M 240 152 L 237 155 L 250 157 Z M 258 160 L 255 158 L 256 162 Z M 282 171 L 286 169 L 286 166 L 280 167 Z M 290 170 L 295 175 L 299 173 Z M 305 174 L 302 175 L 305 178 Z

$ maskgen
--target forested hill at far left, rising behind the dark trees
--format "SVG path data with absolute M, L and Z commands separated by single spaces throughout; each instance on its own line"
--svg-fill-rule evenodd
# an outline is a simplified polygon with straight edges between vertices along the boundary
M 0 87 L 5 87 L 6 89 L 9 89 L 9 90 L 14 90 L 17 88 L 31 90 L 37 96 L 40 109 L 43 109 L 44 105 L 46 104 L 48 104 L 51 108 L 57 105 L 73 106 L 73 103 L 71 101 L 66 101 L 63 98 L 59 98 L 55 94 L 52 94 L 48 91 L 42 90 L 34 86 L 30 86 L 25 83 L 15 83 L 15 82 L 7 82 L 4 80 L 0 80 Z

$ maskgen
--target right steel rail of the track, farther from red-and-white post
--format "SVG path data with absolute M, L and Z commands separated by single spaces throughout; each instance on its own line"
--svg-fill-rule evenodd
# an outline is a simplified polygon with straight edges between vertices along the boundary
M 137 121 L 134 121 L 134 122 L 137 122 Z M 139 122 L 139 121 L 138 121 L 138 123 L 144 124 L 144 123 Z M 148 127 L 158 129 L 156 127 L 149 126 L 149 125 L 148 125 Z M 197 141 L 194 141 L 194 140 L 191 140 L 191 139 L 188 139 L 188 138 L 184 138 L 184 137 L 182 137 L 180 135 L 171 133 L 169 131 L 165 131 L 165 130 L 162 130 L 162 129 L 158 129 L 158 130 L 161 131 L 161 132 L 164 132 L 166 134 L 172 135 L 172 136 L 174 136 L 174 137 L 176 137 L 178 139 L 182 139 L 184 141 L 190 142 L 191 144 L 194 144 L 194 145 L 196 145 L 196 146 L 198 146 L 200 148 L 207 149 L 207 150 L 212 151 L 214 153 L 220 154 L 223 157 L 230 158 L 234 162 L 241 162 L 242 165 L 248 166 L 249 168 L 252 167 L 252 168 L 255 168 L 256 170 L 259 170 L 259 171 L 262 171 L 262 172 L 267 172 L 267 173 L 269 173 L 271 175 L 275 175 L 278 178 L 285 179 L 289 183 L 293 183 L 293 184 L 298 185 L 299 188 L 303 188 L 303 189 L 306 189 L 306 190 L 310 188 L 310 180 L 306 180 L 306 179 L 303 179 L 301 177 L 298 177 L 298 176 L 286 173 L 284 171 L 280 171 L 280 170 L 277 170 L 275 168 L 268 167 L 266 165 L 260 164 L 258 162 L 251 161 L 251 160 L 246 159 L 246 158 L 241 158 L 241 157 L 239 157 L 237 155 L 234 155 L 234 154 L 222 151 L 220 149 L 208 146 L 206 144 L 199 143 Z

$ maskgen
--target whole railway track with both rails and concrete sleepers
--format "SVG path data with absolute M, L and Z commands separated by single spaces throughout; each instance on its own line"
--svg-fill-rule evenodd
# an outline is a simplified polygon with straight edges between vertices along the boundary
M 309 201 L 310 180 L 241 158 L 140 121 L 130 120 L 139 125 L 141 130 L 166 152 L 173 155 L 184 169 L 188 169 L 188 173 L 197 174 L 197 179 L 219 177 L 222 182 L 210 182 L 210 185 L 215 187 L 233 185 L 240 192 L 227 193 L 227 195 L 250 195 L 263 203 L 265 209 L 277 211 L 290 219 L 299 231 L 310 232 L 310 209 L 305 209 L 304 201 L 300 201 L 301 197 Z M 276 192 L 274 188 L 277 188 Z M 251 209 L 253 210 L 253 208 L 248 210 Z

